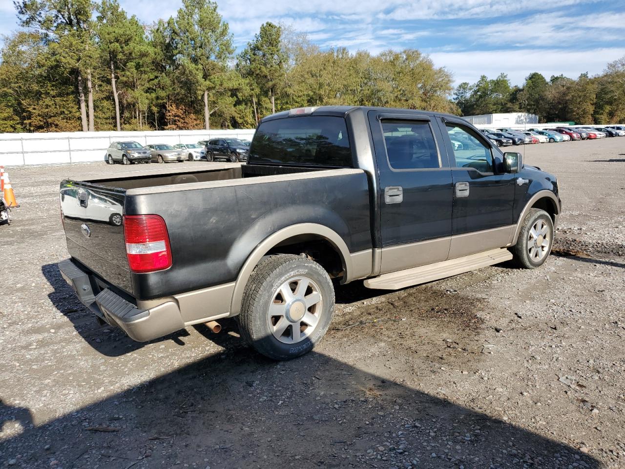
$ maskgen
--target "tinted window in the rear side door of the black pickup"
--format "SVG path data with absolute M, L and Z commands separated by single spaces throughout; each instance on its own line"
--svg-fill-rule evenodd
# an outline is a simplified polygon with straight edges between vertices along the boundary
M 384 120 L 382 133 L 392 169 L 441 167 L 429 122 Z

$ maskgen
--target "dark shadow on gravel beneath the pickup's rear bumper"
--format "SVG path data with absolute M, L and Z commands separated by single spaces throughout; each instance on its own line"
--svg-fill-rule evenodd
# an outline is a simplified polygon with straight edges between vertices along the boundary
M 65 315 L 74 325 L 81 337 L 99 353 L 106 356 L 119 356 L 139 350 L 148 343 L 173 340 L 184 345 L 183 338 L 189 336 L 186 330 L 179 330 L 151 342 L 136 342 L 126 336 L 123 331 L 113 326 L 99 326 L 96 315 L 78 300 L 71 286 L 64 280 L 56 264 L 41 267 L 41 273 L 54 288 L 48 298 L 54 307 Z

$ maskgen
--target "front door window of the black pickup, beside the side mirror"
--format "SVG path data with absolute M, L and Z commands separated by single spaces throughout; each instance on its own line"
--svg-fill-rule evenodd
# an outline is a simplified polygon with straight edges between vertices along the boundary
M 491 148 L 482 142 L 476 131 L 453 123 L 447 123 L 446 127 L 457 168 L 474 168 L 480 173 L 493 172 Z

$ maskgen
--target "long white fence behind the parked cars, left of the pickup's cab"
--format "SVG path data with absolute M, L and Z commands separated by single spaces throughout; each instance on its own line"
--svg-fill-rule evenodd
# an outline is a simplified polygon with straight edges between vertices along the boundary
M 153 143 L 196 143 L 216 137 L 251 140 L 254 129 L 163 130 L 148 132 L 54 132 L 0 134 L 0 165 L 63 164 L 104 161 L 114 141 Z

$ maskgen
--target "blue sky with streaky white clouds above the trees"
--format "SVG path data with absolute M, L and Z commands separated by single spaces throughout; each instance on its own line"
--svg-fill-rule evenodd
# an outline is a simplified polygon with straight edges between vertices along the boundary
M 144 23 L 176 14 L 180 0 L 119 0 Z M 291 24 L 322 48 L 378 53 L 416 48 L 455 83 L 532 71 L 600 73 L 625 56 L 625 8 L 594 0 L 251 0 L 217 1 L 237 48 L 265 21 Z M 12 0 L 0 0 L 0 34 L 17 28 Z

